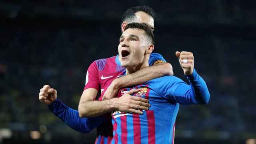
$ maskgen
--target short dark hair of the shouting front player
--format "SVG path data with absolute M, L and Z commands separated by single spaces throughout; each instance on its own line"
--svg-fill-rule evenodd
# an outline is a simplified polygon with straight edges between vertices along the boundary
M 154 34 L 151 28 L 145 24 L 145 23 L 138 23 L 138 22 L 132 22 L 130 24 L 127 24 L 124 28 L 124 31 L 128 28 L 136 28 L 139 30 L 144 30 L 146 32 L 146 35 L 150 38 L 151 44 L 155 44 Z

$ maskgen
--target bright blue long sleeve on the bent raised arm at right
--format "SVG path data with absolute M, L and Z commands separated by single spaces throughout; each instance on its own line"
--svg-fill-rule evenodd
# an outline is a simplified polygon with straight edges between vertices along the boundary
M 162 88 L 165 98 L 172 103 L 207 104 L 210 100 L 210 93 L 204 80 L 196 70 L 187 78 L 189 85 L 180 78 L 169 76 L 166 87 Z

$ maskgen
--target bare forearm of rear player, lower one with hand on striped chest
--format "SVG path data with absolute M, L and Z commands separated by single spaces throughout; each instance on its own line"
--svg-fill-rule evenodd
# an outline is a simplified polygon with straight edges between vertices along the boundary
M 78 106 L 79 116 L 80 117 L 94 117 L 101 116 L 107 112 L 111 112 L 116 109 L 113 99 L 110 100 L 88 100 L 85 102 L 80 102 Z

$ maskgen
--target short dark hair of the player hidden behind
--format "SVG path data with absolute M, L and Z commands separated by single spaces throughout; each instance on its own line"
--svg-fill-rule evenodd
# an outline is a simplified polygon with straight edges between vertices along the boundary
M 152 16 L 153 19 L 155 18 L 155 12 L 149 6 L 136 6 L 136 7 L 129 8 L 128 10 L 126 10 L 126 12 L 124 12 L 121 20 L 121 26 L 124 21 L 128 19 L 134 19 L 135 13 L 139 11 L 145 12 L 146 14 Z

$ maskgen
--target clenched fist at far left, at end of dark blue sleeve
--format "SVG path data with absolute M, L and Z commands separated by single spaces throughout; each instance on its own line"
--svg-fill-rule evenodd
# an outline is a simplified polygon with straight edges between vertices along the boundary
M 57 90 L 51 88 L 49 85 L 44 85 L 39 92 L 39 100 L 46 105 L 51 104 L 57 98 Z

